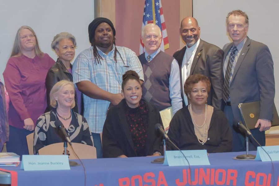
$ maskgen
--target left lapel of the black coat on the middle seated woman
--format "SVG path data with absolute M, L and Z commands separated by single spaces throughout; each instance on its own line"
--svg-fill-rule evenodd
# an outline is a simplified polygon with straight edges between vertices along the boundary
M 134 149 L 134 143 L 133 143 L 133 140 L 132 140 L 132 136 L 131 136 L 131 132 L 129 130 L 129 127 L 128 127 L 128 123 L 127 123 L 127 120 L 126 120 L 126 117 L 125 117 L 125 113 L 124 113 L 124 101 L 121 101 L 120 103 L 121 104 L 118 104 L 118 118 L 120 120 L 120 126 L 122 127 L 123 131 L 124 131 L 124 134 L 126 136 L 126 139 L 128 140 L 130 146 L 131 146 L 131 149 L 133 150 L 133 152 L 135 153 L 135 149 Z M 135 153 L 136 154 L 136 153 Z

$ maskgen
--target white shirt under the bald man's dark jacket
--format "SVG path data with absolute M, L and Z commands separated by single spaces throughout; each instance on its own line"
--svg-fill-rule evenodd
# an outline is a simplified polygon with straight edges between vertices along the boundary
M 195 53 L 197 51 L 197 47 L 200 44 L 200 39 L 198 39 L 198 41 L 190 48 L 187 47 L 186 45 L 186 51 L 183 57 L 183 61 L 182 61 L 182 66 L 181 66 L 181 76 L 182 76 L 182 87 L 184 87 L 184 83 L 186 81 L 186 79 L 189 77 L 190 75 L 190 71 L 191 71 L 191 66 L 195 57 Z M 183 90 L 183 95 L 184 95 L 184 101 L 185 101 L 185 105 L 188 105 L 188 99 L 186 94 L 184 93 Z

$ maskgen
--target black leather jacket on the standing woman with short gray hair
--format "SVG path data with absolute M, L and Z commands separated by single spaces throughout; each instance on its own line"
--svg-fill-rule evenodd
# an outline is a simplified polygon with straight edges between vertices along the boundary
M 70 64 L 71 69 L 73 68 L 72 64 Z M 62 61 L 58 58 L 56 63 L 48 70 L 47 77 L 46 77 L 46 87 L 47 87 L 47 108 L 45 110 L 45 113 L 52 110 L 53 108 L 50 106 L 50 97 L 49 93 L 52 89 L 52 87 L 55 85 L 55 83 L 61 81 L 61 80 L 69 80 L 73 82 L 73 75 L 69 73 L 69 71 L 66 69 Z M 78 98 L 77 94 L 75 93 L 75 107 L 73 108 L 73 111 L 76 113 L 78 112 Z

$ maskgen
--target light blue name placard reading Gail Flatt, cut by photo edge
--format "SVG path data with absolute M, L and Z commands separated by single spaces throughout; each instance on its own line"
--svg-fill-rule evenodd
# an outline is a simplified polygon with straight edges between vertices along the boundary
M 268 157 L 267 153 L 270 157 Z M 279 161 L 279 145 L 277 146 L 264 146 L 263 149 L 261 147 L 257 147 L 257 154 L 255 160 L 261 160 L 262 162 L 270 162 L 270 158 L 272 161 Z

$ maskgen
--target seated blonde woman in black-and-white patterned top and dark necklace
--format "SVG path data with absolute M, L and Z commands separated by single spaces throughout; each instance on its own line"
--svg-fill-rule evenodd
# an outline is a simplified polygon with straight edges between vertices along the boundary
M 93 138 L 89 131 L 86 119 L 73 112 L 75 106 L 75 89 L 73 82 L 62 80 L 57 82 L 50 91 L 51 111 L 41 115 L 34 131 L 34 154 L 44 146 L 64 142 L 64 135 L 54 123 L 60 120 L 74 143 L 93 146 Z

